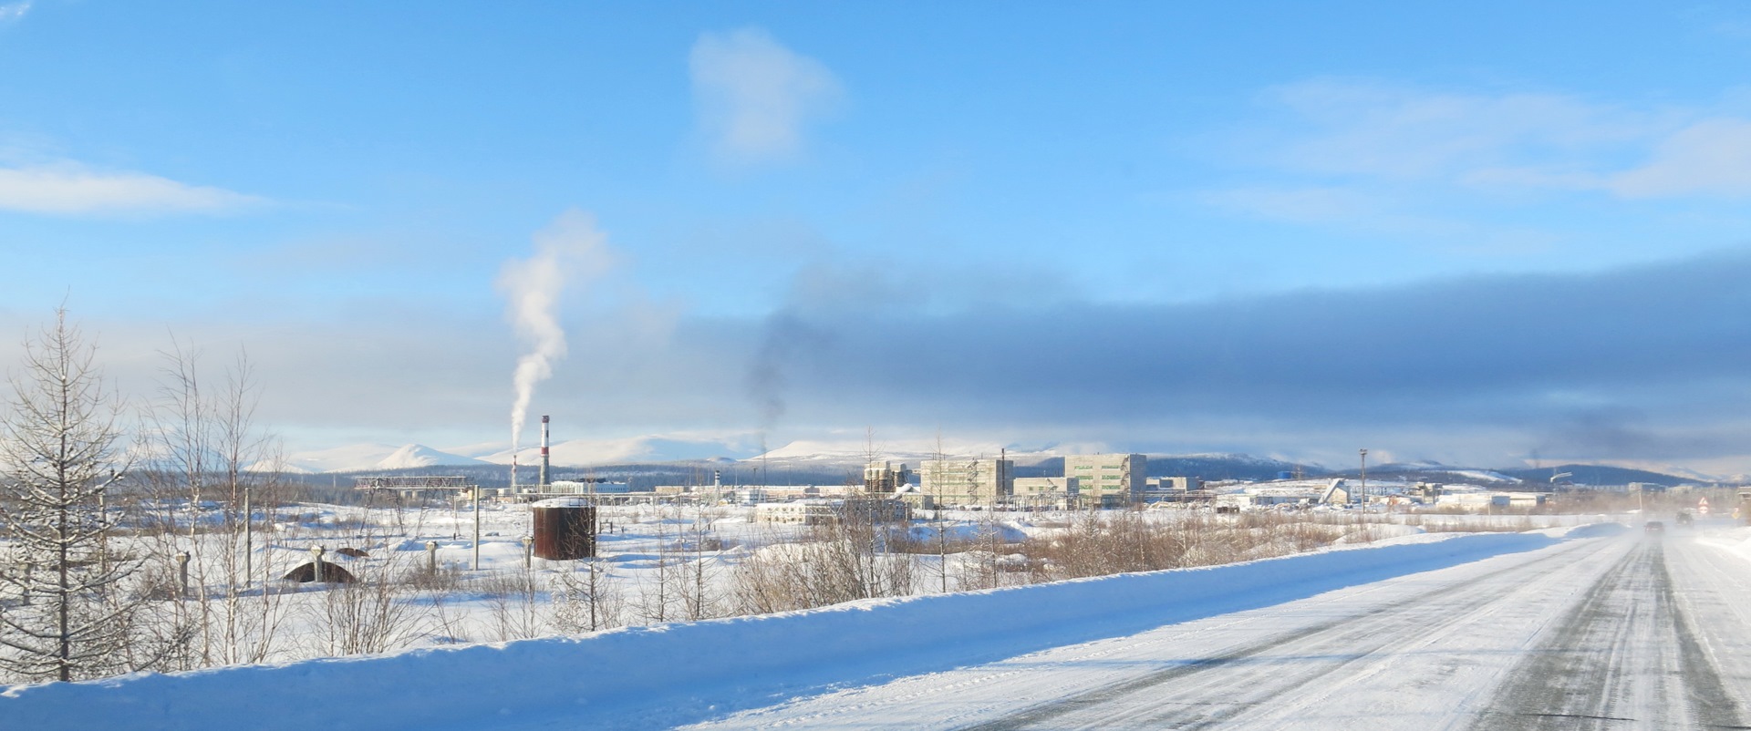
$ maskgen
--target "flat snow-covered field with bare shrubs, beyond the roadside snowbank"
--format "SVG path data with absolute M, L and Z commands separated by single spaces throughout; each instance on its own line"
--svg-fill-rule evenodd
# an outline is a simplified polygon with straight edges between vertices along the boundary
M 527 505 L 520 504 L 482 505 L 478 554 L 473 540 L 475 511 L 468 504 L 287 505 L 271 516 L 263 514 L 270 518 L 264 525 L 271 530 L 256 533 L 247 561 L 249 581 L 240 581 L 243 589 L 235 598 L 226 595 L 226 577 L 240 575 L 243 561 L 222 547 L 215 551 L 215 546 L 210 546 L 217 540 L 215 535 L 201 533 L 194 539 L 207 542 L 205 549 L 191 549 L 189 539 L 172 542 L 138 539 L 131 551 L 152 556 L 147 568 L 161 570 L 165 575 L 173 572 L 170 558 L 173 553 L 189 551 L 198 556 L 193 593 L 207 596 L 210 605 L 217 605 L 217 612 L 268 617 L 254 624 L 243 623 L 245 626 L 238 630 L 242 637 L 229 640 L 247 644 L 250 651 L 224 647 L 215 654 L 231 658 L 229 661 L 266 663 L 751 614 L 755 609 L 742 607 L 735 598 L 737 567 L 751 560 L 809 561 L 788 547 L 804 540 L 809 528 L 756 523 L 749 507 L 615 505 L 601 511 L 597 561 L 548 561 L 531 556 L 531 514 Z M 1156 526 L 1192 521 L 1229 526 L 1245 523 L 1196 511 L 1145 511 L 1133 516 Z M 1038 575 L 1014 568 L 1023 561 L 1023 556 L 1014 553 L 1019 551 L 1017 544 L 1030 537 L 1065 533 L 1082 518 L 1084 514 L 1066 512 L 946 511 L 937 519 L 916 519 L 905 533 L 916 544 L 914 553 L 905 556 L 909 561 L 902 577 L 905 586 L 888 593 L 925 595 L 1038 581 Z M 1317 521 L 1304 525 L 1327 530 L 1329 544 L 1343 546 L 1417 535 L 1425 530 L 1532 530 L 1581 525 L 1600 518 L 1334 512 L 1287 519 Z M 1271 532 L 1266 526 L 1254 533 Z M 981 546 L 981 539 L 986 537 L 995 539 L 989 547 Z M 939 546 L 939 539 L 947 546 Z M 1266 535 L 1264 544 L 1236 547 L 1231 556 L 1201 560 L 1187 556 L 1187 560 L 1224 563 L 1306 547 L 1283 540 Z M 427 553 L 429 544 L 436 546 L 432 554 Z M 359 638 L 352 628 L 347 631 L 334 628 L 336 612 L 357 614 L 359 607 L 336 607 L 331 602 L 333 593 L 320 586 L 282 581 L 291 570 L 312 560 L 313 547 L 322 547 L 324 561 L 366 579 L 418 575 L 432 560 L 440 570 L 434 574 L 436 581 L 397 582 L 404 586 L 397 586 L 397 593 L 389 600 L 403 610 L 378 617 L 378 626 L 366 628 L 378 630 L 383 637 Z M 979 551 L 986 547 L 988 551 Z M 359 551 L 362 556 L 341 551 Z M 993 556 L 993 551 L 1003 556 Z M 201 556 L 205 565 L 200 563 Z M 991 560 L 1005 561 L 1009 568 L 981 572 L 981 561 Z M 571 607 L 567 614 L 567 607 L 555 603 L 555 598 L 562 600 L 567 591 L 583 591 L 580 584 L 587 581 L 595 581 L 583 588 L 588 589 L 587 600 L 594 602 L 594 607 Z M 205 591 L 200 589 L 203 584 Z M 259 610 L 254 603 L 261 605 Z M 585 616 L 580 617 L 580 612 Z M 389 623 L 396 626 L 382 626 Z M 201 640 L 214 642 L 210 637 Z

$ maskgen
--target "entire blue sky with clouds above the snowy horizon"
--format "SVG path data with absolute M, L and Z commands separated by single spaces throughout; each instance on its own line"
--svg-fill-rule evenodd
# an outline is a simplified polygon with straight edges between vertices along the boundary
M 576 435 L 1751 472 L 1746 68 L 1740 3 L 0 0 L 0 324 L 508 441 L 548 231 Z

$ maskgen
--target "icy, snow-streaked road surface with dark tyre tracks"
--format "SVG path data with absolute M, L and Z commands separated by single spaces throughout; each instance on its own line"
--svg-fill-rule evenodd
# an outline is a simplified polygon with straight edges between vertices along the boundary
M 1569 540 L 695 729 L 1751 728 L 1751 561 Z

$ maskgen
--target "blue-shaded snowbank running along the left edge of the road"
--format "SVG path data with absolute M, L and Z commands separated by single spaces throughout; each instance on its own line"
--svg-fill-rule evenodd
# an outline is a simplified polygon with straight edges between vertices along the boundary
M 9 728 L 671 728 L 837 684 L 940 672 L 1532 551 L 1548 533 L 1417 535 L 1227 567 L 597 635 L 0 693 Z

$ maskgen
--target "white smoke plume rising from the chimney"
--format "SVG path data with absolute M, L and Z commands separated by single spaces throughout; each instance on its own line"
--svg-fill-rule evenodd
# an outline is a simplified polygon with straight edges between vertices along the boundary
M 553 374 L 566 357 L 566 329 L 559 324 L 559 297 L 569 283 L 585 283 L 608 273 L 615 255 L 608 236 L 597 231 L 595 217 L 569 208 L 548 227 L 534 234 L 534 255 L 511 259 L 499 271 L 497 287 L 504 294 L 504 317 L 517 329 L 527 350 L 517 359 L 511 385 L 511 449 L 522 446 L 524 421 L 536 385 Z

